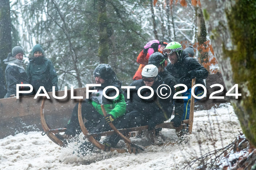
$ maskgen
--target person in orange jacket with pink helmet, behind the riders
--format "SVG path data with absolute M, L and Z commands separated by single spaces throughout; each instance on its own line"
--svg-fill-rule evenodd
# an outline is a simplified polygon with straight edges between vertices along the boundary
M 138 70 L 136 71 L 135 75 L 133 76 L 133 80 L 142 79 L 142 69 L 144 66 L 148 64 L 148 58 L 154 52 L 163 52 L 163 49 L 166 47 L 166 42 L 159 42 L 158 40 L 151 40 L 149 41 L 140 52 L 137 57 L 137 63 L 140 64 Z M 165 66 L 167 66 L 167 60 L 165 60 Z

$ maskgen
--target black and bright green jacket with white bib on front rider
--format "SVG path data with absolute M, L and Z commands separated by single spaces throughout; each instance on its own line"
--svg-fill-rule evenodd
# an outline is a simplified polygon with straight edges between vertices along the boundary
M 107 86 L 117 87 L 119 90 L 119 95 L 115 99 L 107 99 L 102 95 L 102 90 Z M 98 92 L 90 92 L 90 99 L 86 101 L 93 104 L 94 108 L 103 115 L 101 104 L 104 104 L 107 114 L 113 115 L 114 119 L 123 116 L 125 114 L 126 103 L 124 100 L 123 91 L 121 90 L 121 83 L 119 81 L 112 81 L 110 83 L 101 84 L 101 87 L 91 87 L 90 90 L 98 90 Z M 116 95 L 116 90 L 113 88 L 108 88 L 106 90 L 106 95 L 113 97 Z

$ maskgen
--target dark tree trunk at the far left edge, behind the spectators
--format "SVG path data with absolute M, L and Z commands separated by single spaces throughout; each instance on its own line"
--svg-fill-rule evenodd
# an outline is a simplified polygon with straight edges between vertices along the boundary
M 0 1 L 0 63 L 9 52 L 12 51 L 11 40 L 11 15 L 10 15 L 10 2 L 9 0 Z M 3 70 L 5 70 L 5 64 L 1 63 Z

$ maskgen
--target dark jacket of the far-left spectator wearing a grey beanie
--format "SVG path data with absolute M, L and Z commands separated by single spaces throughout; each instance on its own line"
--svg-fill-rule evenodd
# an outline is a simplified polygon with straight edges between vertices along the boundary
M 28 84 L 28 77 L 23 68 L 23 61 L 10 57 L 9 60 L 5 59 L 4 63 L 7 64 L 5 69 L 5 79 L 7 84 L 7 94 L 5 97 L 10 97 L 16 94 L 16 84 Z

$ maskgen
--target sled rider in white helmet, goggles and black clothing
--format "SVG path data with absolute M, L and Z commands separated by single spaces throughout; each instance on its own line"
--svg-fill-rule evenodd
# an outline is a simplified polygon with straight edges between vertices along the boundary
M 163 123 L 172 115 L 173 104 L 170 96 L 166 98 L 165 94 L 170 94 L 169 89 L 160 92 L 160 85 L 165 84 L 162 78 L 158 75 L 158 68 L 153 64 L 146 65 L 142 70 L 142 79 L 135 80 L 130 86 L 136 88 L 130 89 L 130 99 L 127 98 L 127 90 L 124 91 L 125 99 L 127 99 L 126 114 L 121 118 L 120 122 L 116 124 L 117 129 L 139 127 L 148 125 L 148 130 L 153 130 L 155 125 Z M 142 86 L 149 86 L 153 89 L 154 95 L 149 99 L 142 99 L 138 95 L 138 90 Z M 161 97 L 159 97 L 157 95 Z M 162 95 L 163 94 L 163 95 Z M 151 91 L 148 88 L 143 88 L 140 91 L 143 97 L 149 97 Z M 167 95 L 167 96 L 168 96 Z M 163 99 L 165 98 L 165 99 Z M 103 143 L 109 146 L 116 146 L 120 137 L 116 134 L 107 137 Z

